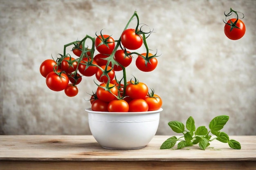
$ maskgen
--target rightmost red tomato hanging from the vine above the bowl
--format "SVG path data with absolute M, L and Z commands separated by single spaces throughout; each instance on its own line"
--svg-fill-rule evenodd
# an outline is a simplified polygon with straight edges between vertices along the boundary
M 146 56 L 146 53 L 142 53 L 141 55 Z M 153 54 L 148 53 L 148 57 L 152 56 Z M 149 59 L 149 62 L 147 62 L 147 65 L 145 63 L 145 59 L 141 57 L 140 55 L 136 59 L 136 66 L 139 68 L 140 71 L 153 71 L 157 67 L 157 59 L 155 57 Z

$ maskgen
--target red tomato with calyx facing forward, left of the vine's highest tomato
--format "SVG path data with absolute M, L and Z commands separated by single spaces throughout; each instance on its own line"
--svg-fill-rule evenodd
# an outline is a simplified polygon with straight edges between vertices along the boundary
M 115 40 L 110 35 L 102 36 L 99 35 L 95 39 L 95 47 L 102 54 L 111 54 L 115 49 Z

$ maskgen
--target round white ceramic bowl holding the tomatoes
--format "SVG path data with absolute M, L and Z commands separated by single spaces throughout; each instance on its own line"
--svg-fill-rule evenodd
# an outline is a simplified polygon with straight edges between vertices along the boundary
M 93 137 L 107 149 L 128 150 L 144 148 L 155 136 L 160 112 L 88 112 Z

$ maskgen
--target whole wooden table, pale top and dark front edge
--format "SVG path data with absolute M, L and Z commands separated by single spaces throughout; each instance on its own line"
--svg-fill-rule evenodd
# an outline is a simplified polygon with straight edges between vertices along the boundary
M 0 170 L 256 170 L 256 136 L 230 136 L 241 150 L 217 140 L 206 150 L 160 150 L 168 137 L 155 136 L 142 149 L 108 150 L 92 136 L 1 135 Z

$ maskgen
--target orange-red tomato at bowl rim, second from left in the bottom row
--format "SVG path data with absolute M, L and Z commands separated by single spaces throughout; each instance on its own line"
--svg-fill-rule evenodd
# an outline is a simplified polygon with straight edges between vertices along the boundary
M 125 100 L 112 100 L 108 104 L 109 112 L 128 112 L 129 104 Z

